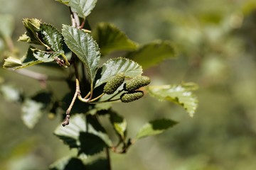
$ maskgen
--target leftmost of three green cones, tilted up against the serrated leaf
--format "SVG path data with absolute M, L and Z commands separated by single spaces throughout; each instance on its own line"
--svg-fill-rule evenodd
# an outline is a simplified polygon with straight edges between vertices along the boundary
M 107 82 L 104 86 L 103 93 L 105 94 L 114 94 L 114 91 L 118 89 L 119 86 L 124 82 L 124 73 L 119 73 L 114 76 L 114 78 Z

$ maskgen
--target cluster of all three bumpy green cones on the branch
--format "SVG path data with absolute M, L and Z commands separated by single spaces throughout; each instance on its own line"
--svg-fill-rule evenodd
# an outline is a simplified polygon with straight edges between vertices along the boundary
M 117 91 L 119 86 L 124 83 L 125 75 L 124 73 L 119 73 L 113 77 L 107 84 L 104 86 L 103 93 L 105 94 L 114 94 L 114 91 Z M 146 86 L 150 83 L 149 77 L 138 76 L 132 79 L 129 79 L 124 83 L 124 94 L 120 96 L 120 99 L 124 103 L 128 103 L 131 101 L 136 101 L 139 98 L 142 98 L 144 95 L 143 91 L 137 91 L 137 89 L 142 86 Z

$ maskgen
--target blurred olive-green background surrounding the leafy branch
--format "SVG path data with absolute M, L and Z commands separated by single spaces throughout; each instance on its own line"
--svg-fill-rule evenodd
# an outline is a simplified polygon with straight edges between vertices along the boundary
M 0 0 L 0 13 L 14 16 L 13 39 L 21 55 L 28 47 L 16 42 L 24 33 L 23 18 L 40 18 L 59 29 L 63 23 L 70 24 L 68 8 L 53 0 Z M 171 40 L 178 58 L 144 74 L 152 84 L 193 81 L 200 86 L 193 118 L 181 107 L 150 96 L 114 105 L 127 118 L 129 136 L 154 118 L 171 118 L 179 124 L 138 141 L 127 154 L 112 154 L 113 169 L 256 169 L 255 0 L 98 1 L 89 20 L 92 28 L 101 21 L 114 23 L 142 44 Z M 41 88 L 33 79 L 4 69 L 0 72 L 4 84 L 28 95 Z M 17 103 L 0 96 L 0 169 L 48 169 L 56 159 L 70 154 L 53 135 L 60 118 L 49 120 L 44 115 L 29 130 L 20 110 Z

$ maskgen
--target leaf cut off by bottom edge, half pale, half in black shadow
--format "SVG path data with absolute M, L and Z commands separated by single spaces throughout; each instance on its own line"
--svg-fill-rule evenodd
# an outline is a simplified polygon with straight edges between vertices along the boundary
M 82 160 L 77 157 L 63 157 L 53 164 L 50 164 L 49 168 L 50 170 L 85 170 L 85 165 L 82 163 Z

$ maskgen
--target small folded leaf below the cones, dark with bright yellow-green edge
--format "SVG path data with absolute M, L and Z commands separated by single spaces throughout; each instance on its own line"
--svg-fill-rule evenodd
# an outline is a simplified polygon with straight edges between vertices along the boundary
M 114 130 L 118 135 L 125 139 L 126 131 L 127 131 L 127 121 L 115 112 L 110 113 L 110 122 L 112 123 Z

